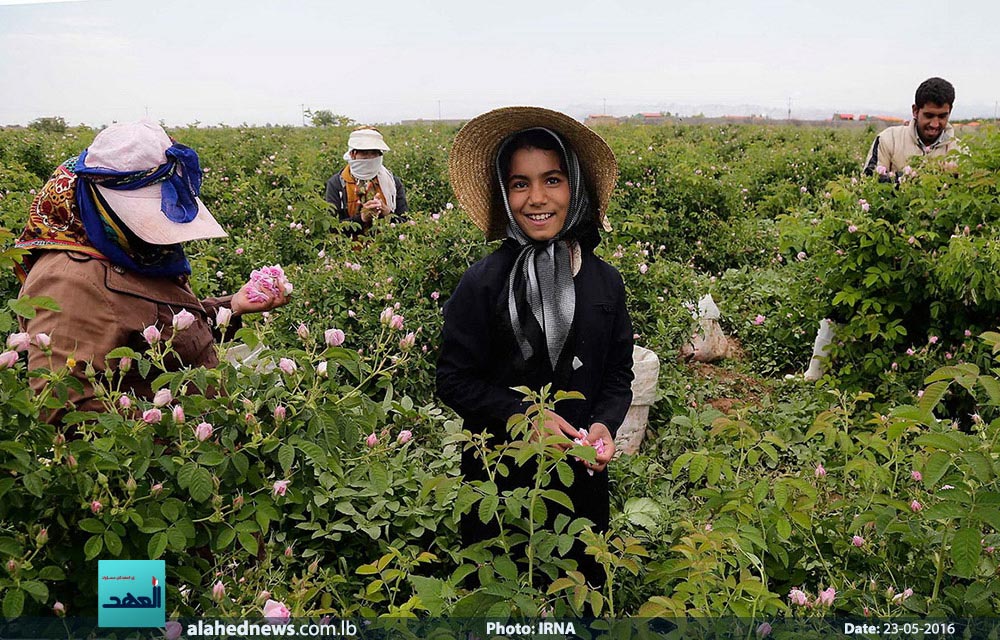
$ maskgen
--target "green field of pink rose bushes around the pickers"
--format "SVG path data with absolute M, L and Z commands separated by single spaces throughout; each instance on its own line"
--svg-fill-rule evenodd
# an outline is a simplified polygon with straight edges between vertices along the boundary
M 58 427 L 39 416 L 87 363 L 29 374 L 0 355 L 2 613 L 93 616 L 97 561 L 117 558 L 166 561 L 168 617 L 259 617 L 268 599 L 296 617 L 995 616 L 1000 131 L 981 129 L 898 183 L 860 176 L 873 130 L 600 129 L 620 176 L 597 252 L 660 359 L 645 441 L 608 467 L 604 535 L 565 516 L 538 526 L 588 454 L 487 448 L 434 394 L 442 306 L 493 247 L 448 183 L 456 128 L 382 129 L 410 221 L 361 242 L 322 197 L 348 129 L 173 129 L 230 233 L 186 247 L 195 292 L 280 264 L 292 300 L 245 318 L 214 370 L 162 371 L 169 343 L 113 352 L 162 371 L 166 403 L 123 400 L 111 367 L 107 411 Z M 94 133 L 0 129 L 4 340 L 52 304 L 17 300 L 33 193 Z M 738 348 L 687 363 L 709 293 Z M 837 321 L 828 373 L 806 382 L 823 318 Z M 536 462 L 535 486 L 463 482 L 466 448 L 493 478 Z M 501 535 L 463 547 L 464 514 Z M 603 587 L 564 559 L 577 539 Z

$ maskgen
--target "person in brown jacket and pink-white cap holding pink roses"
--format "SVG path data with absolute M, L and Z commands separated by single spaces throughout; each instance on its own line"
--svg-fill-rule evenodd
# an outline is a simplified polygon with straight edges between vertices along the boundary
M 29 369 L 69 367 L 82 387 L 69 390 L 76 409 L 105 409 L 108 400 L 97 397 L 85 371 L 90 364 L 102 376 L 114 348 L 141 353 L 151 340 L 172 339 L 176 357 L 168 366 L 212 367 L 218 314 L 238 317 L 287 301 L 284 291 L 259 297 L 248 295 L 247 286 L 232 296 L 195 297 L 181 243 L 226 235 L 200 189 L 194 150 L 142 121 L 103 130 L 55 170 L 32 202 L 16 243 L 28 252 L 17 270 L 20 295 L 52 298 L 60 311 L 43 307 L 22 318 L 21 343 L 28 343 Z M 123 391 L 152 397 L 151 380 L 137 367 L 121 369 Z M 40 392 L 47 383 L 33 377 L 30 384 Z

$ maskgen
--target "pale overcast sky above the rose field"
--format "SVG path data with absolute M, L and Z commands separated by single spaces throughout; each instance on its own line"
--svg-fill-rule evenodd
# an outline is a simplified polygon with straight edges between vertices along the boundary
M 996 0 L 0 0 L 0 125 L 469 118 L 908 117 L 930 76 L 954 118 L 1000 100 Z

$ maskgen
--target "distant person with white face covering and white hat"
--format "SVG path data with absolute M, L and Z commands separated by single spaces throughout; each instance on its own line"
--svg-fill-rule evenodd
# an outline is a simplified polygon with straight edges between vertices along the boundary
M 389 145 L 373 127 L 351 132 L 344 160 L 347 166 L 326 182 L 326 201 L 342 222 L 352 222 L 347 232 L 357 236 L 378 218 L 405 220 L 406 193 L 399 178 L 382 164 Z

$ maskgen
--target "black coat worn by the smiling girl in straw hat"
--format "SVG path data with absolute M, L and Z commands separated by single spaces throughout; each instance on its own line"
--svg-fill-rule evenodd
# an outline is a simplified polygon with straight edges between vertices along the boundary
M 525 361 L 514 339 L 507 310 L 507 278 L 520 248 L 506 240 L 472 265 L 444 306 L 444 329 L 437 365 L 438 396 L 473 432 L 488 431 L 508 439 L 507 420 L 526 404 L 510 387 L 538 390 L 552 383 L 557 390 L 579 391 L 583 400 L 565 400 L 556 413 L 577 429 L 595 422 L 612 435 L 632 402 L 632 322 L 625 308 L 625 286 L 617 269 L 583 248 L 583 262 L 573 278 L 576 311 L 563 356 L 553 371 L 546 353 Z M 544 351 L 544 350 L 540 350 Z M 580 363 L 577 368 L 574 363 Z M 574 464 L 572 487 L 566 491 L 577 516 L 605 530 L 609 518 L 607 471 L 590 476 Z M 483 479 L 481 463 L 470 452 L 462 457 L 467 479 Z M 523 471 L 523 470 L 522 470 Z M 513 473 L 508 486 L 524 486 L 525 474 Z M 520 477 L 518 477 L 520 476 Z M 493 535 L 475 514 L 463 521 L 467 543 Z

